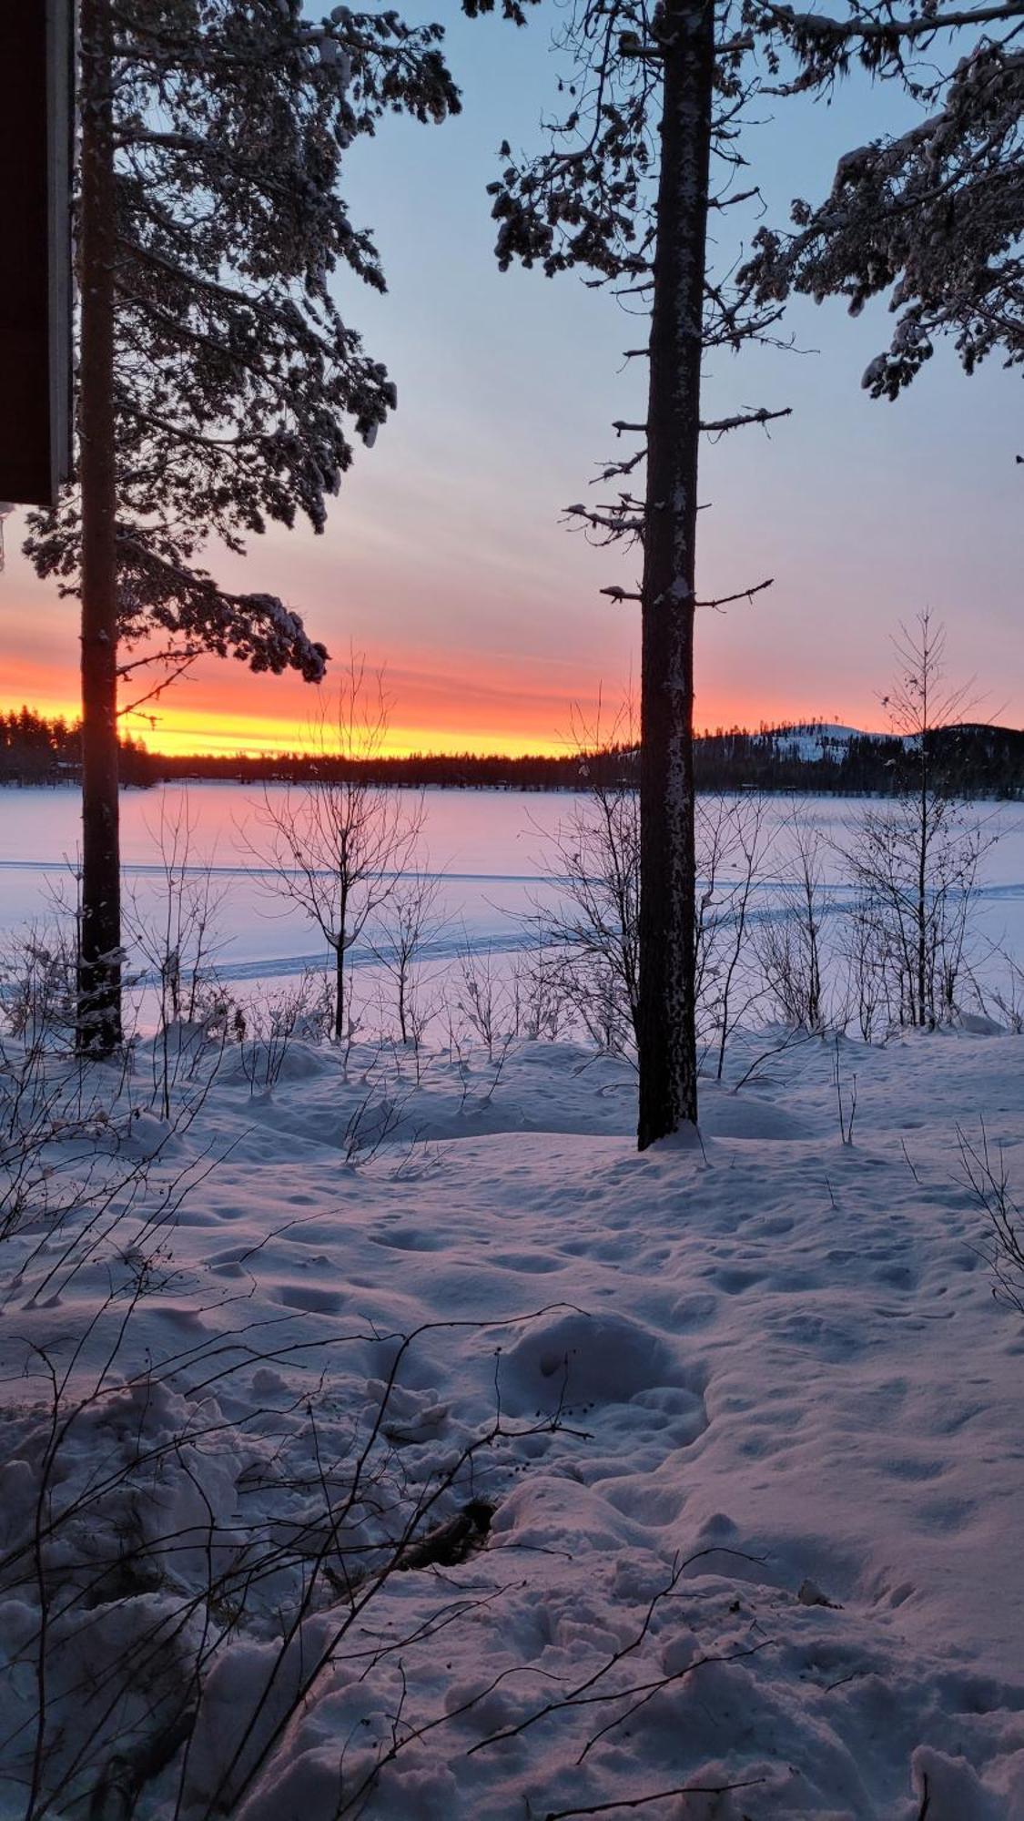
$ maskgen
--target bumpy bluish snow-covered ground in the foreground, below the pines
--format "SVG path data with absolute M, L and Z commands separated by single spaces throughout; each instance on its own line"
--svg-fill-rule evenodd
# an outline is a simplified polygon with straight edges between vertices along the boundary
M 1024 1817 L 1024 1315 L 958 1151 L 1020 1200 L 1024 1040 L 758 1056 L 645 1155 L 543 1043 L 97 1125 L 133 1209 L 0 1249 L 4 1816 Z

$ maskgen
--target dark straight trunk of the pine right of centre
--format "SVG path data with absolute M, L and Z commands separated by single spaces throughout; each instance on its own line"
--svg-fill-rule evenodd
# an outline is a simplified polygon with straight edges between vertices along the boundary
M 696 1124 L 694 544 L 714 7 L 667 0 L 640 767 L 640 1149 Z

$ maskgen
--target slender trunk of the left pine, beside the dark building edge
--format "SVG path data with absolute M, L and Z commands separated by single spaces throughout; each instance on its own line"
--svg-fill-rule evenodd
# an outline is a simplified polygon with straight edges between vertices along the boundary
M 117 211 L 109 0 L 82 0 L 82 920 L 78 1049 L 120 1043 L 117 799 L 117 477 L 113 288 Z

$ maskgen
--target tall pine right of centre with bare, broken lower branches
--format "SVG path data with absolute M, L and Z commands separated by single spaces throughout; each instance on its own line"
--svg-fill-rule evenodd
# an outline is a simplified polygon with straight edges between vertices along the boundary
M 610 504 L 572 506 L 598 537 L 643 546 L 636 595 L 605 590 L 641 608 L 641 898 L 640 898 L 640 1145 L 698 1114 L 694 994 L 694 617 L 700 433 L 783 415 L 767 408 L 707 421 L 701 361 L 767 337 L 785 286 L 742 266 L 740 248 L 709 260 L 707 220 L 725 224 L 756 198 L 740 148 L 749 104 L 763 97 L 827 91 L 853 64 L 876 78 L 920 78 L 909 58 L 946 44 L 951 31 L 1006 24 L 1024 0 L 904 15 L 891 0 L 851 5 L 844 18 L 794 13 L 771 0 L 578 0 L 561 35 L 568 106 L 552 148 L 514 160 L 490 186 L 497 260 L 570 268 L 589 282 L 650 304 L 650 331 L 630 357 L 649 359 L 641 446 L 605 466 L 627 481 Z M 630 477 L 647 466 L 640 493 Z M 634 492 L 636 488 L 636 492 Z M 758 583 L 758 588 L 767 583 Z M 753 590 L 740 588 L 736 599 Z M 725 601 L 711 603 L 725 605 Z

